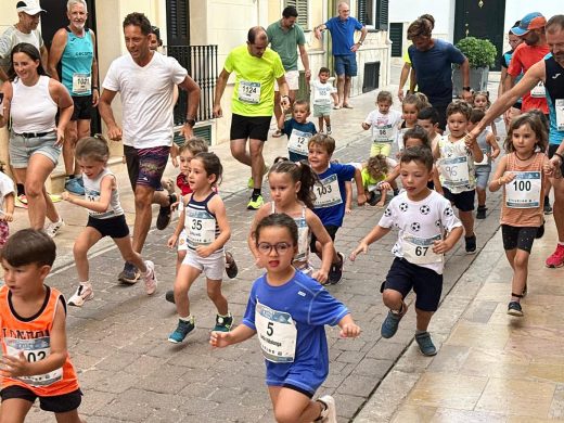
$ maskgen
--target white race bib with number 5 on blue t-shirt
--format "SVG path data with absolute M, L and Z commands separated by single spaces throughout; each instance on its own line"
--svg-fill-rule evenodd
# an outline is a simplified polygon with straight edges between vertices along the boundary
M 255 326 L 262 355 L 272 362 L 293 362 L 296 355 L 297 330 L 292 316 L 277 311 L 257 300 Z

